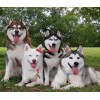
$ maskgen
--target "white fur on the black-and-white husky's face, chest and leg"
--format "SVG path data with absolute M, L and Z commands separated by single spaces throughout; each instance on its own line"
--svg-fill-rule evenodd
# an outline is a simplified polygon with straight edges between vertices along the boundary
M 49 35 L 50 35 L 49 31 L 47 31 L 44 36 L 47 37 Z M 57 35 L 58 35 L 58 37 L 61 37 L 61 34 L 59 31 L 57 32 Z M 52 70 L 53 67 L 56 67 L 56 68 L 58 67 L 59 61 L 60 61 L 60 58 L 58 58 L 58 56 L 62 53 L 62 52 L 60 52 L 58 54 L 58 52 L 57 52 L 60 48 L 61 40 L 57 39 L 56 36 L 51 36 L 50 38 L 48 38 L 44 41 L 45 47 L 48 50 L 50 50 L 50 46 L 52 47 L 53 43 L 56 44 L 56 46 L 55 46 L 56 52 L 54 53 L 54 56 L 51 56 L 50 59 L 44 58 L 44 60 L 47 64 L 47 70 L 44 71 L 45 85 L 49 85 L 49 81 L 52 81 L 52 80 L 50 80 L 50 77 L 49 77 L 50 71 Z M 48 55 L 48 54 L 46 54 L 46 55 Z

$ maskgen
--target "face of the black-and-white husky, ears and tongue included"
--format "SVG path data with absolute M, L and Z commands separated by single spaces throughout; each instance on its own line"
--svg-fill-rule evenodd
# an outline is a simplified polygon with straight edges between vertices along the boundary
M 51 52 L 57 52 L 61 45 L 61 34 L 58 31 L 56 34 L 50 34 L 47 31 L 44 35 L 44 45 L 47 50 Z

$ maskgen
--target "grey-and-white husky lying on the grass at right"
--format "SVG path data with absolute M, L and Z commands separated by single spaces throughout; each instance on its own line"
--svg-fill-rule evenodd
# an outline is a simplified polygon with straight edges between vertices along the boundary
M 66 85 L 66 83 L 69 83 Z M 53 89 L 69 89 L 70 87 L 84 87 L 86 85 L 100 84 L 100 72 L 84 64 L 83 48 L 72 51 L 69 46 L 64 50 L 64 55 L 51 86 Z M 61 85 L 66 85 L 60 88 Z

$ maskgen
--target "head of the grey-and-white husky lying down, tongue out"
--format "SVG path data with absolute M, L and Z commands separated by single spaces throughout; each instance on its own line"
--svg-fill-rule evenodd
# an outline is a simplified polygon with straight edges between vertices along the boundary
M 77 75 L 82 67 L 84 67 L 83 48 L 79 46 L 76 51 L 72 51 L 69 46 L 64 50 L 61 64 L 66 73 Z

